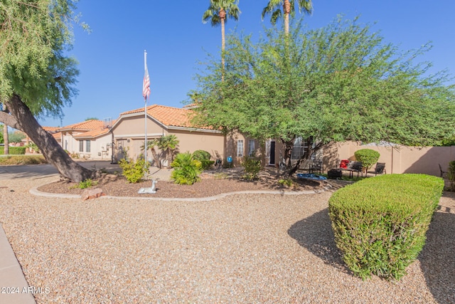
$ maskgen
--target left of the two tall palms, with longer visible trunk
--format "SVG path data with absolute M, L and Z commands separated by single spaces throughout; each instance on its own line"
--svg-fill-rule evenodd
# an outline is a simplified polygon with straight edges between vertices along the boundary
M 210 0 L 210 6 L 208 6 L 207 11 L 204 12 L 202 16 L 203 23 L 207 23 L 210 20 L 212 26 L 221 25 L 221 64 L 223 69 L 225 68 L 225 22 L 228 21 L 228 18 L 239 19 L 241 13 L 239 9 L 238 0 Z

